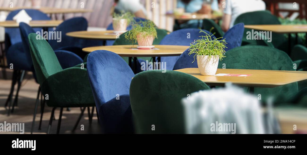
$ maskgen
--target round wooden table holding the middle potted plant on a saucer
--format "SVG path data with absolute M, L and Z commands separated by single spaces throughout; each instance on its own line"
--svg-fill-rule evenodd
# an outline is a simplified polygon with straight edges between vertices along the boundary
M 136 49 L 137 45 L 115 45 L 115 46 L 95 46 L 87 47 L 82 50 L 85 52 L 92 52 L 96 50 L 107 50 L 118 54 L 119 56 L 129 57 L 129 66 L 132 68 L 132 57 L 134 62 L 137 62 L 137 57 L 155 57 L 157 62 L 161 62 L 161 56 L 179 56 L 181 55 L 189 46 L 177 46 L 177 45 L 154 45 L 156 49 L 143 50 Z M 134 71 L 136 70 L 136 63 L 134 63 Z

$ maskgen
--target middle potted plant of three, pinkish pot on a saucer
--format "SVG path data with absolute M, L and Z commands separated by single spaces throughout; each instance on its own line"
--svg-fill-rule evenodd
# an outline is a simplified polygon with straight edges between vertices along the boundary
M 132 41 L 132 43 L 138 42 L 138 48 L 151 49 L 154 46 L 153 40 L 157 38 L 157 30 L 155 24 L 152 21 L 140 21 L 132 24 L 132 29 L 125 34 L 125 39 Z

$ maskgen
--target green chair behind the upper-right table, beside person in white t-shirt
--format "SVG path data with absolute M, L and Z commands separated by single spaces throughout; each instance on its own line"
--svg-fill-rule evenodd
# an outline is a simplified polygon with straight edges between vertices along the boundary
M 239 15 L 236 20 L 235 24 L 244 23 L 244 25 L 274 25 L 274 24 L 281 24 L 278 18 L 272 15 L 269 11 L 254 11 L 254 12 L 247 12 Z M 258 45 L 257 40 L 247 40 L 247 32 L 251 32 L 251 29 L 245 28 L 243 33 L 242 45 Z M 254 30 L 259 31 L 259 30 Z M 272 33 L 272 43 L 274 47 L 278 49 L 285 49 L 287 44 L 284 44 L 286 41 L 286 37 L 283 34 Z

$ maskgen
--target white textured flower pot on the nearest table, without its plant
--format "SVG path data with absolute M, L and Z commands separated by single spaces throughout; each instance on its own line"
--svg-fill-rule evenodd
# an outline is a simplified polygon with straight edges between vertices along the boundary
M 201 75 L 215 75 L 219 56 L 197 55 L 197 66 Z

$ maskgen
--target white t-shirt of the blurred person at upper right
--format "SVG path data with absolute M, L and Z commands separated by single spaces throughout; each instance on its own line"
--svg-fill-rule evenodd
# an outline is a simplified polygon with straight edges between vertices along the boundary
M 262 0 L 226 0 L 224 13 L 231 15 L 231 28 L 239 15 L 265 9 L 266 4 Z

